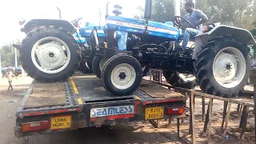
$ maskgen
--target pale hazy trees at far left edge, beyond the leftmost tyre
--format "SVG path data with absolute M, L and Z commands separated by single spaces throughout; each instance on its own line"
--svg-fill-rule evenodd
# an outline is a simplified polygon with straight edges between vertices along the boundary
M 1 54 L 1 65 L 3 67 L 6 66 L 15 66 L 15 53 L 14 50 L 15 48 L 13 47 L 12 49 L 12 44 L 14 42 L 11 42 L 10 44 L 6 44 L 5 46 L 2 46 L 0 48 L 0 54 Z M 21 44 L 21 42 L 19 40 L 17 40 L 17 42 L 15 42 L 16 44 Z M 13 50 L 13 52 L 12 52 Z M 21 62 L 19 61 L 19 52 L 17 50 L 17 62 L 18 62 L 18 66 L 21 65 Z

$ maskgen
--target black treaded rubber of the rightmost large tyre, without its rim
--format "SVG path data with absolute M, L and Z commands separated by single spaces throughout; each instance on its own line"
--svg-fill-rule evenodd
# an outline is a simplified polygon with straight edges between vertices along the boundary
M 207 94 L 214 94 L 220 97 L 231 98 L 237 96 L 238 92 L 240 91 L 240 87 L 243 86 L 244 82 L 247 82 L 246 78 L 249 78 L 249 74 L 246 73 L 242 82 L 240 82 L 238 86 L 232 88 L 232 90 L 222 90 L 221 88 L 214 86 L 214 83 L 217 82 L 213 82 L 214 76 L 212 74 L 212 68 L 210 69 L 210 67 L 212 67 L 213 65 L 212 62 L 214 61 L 215 55 L 218 54 L 219 50 L 222 50 L 222 47 L 220 47 L 221 42 L 225 42 L 226 45 L 236 46 L 242 52 L 242 54 L 246 58 L 247 69 L 247 55 L 249 53 L 249 51 L 247 50 L 248 47 L 242 42 L 236 41 L 230 36 L 222 36 L 214 38 L 213 40 L 210 40 L 204 46 L 202 46 L 202 50 L 198 54 L 198 60 L 195 63 L 195 75 L 197 78 L 196 81 L 199 84 L 201 90 L 203 90 Z

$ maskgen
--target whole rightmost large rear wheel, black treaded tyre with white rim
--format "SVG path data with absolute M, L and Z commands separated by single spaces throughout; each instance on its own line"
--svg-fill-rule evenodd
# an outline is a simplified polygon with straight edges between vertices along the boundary
M 207 94 L 237 96 L 250 76 L 249 51 L 244 43 L 227 36 L 206 43 L 195 63 L 198 85 Z

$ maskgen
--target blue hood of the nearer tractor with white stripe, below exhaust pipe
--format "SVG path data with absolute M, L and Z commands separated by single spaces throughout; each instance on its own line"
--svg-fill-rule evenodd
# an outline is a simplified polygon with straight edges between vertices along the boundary
M 143 34 L 145 30 L 145 23 L 146 21 L 144 19 L 110 16 L 106 19 L 105 29 L 114 29 Z M 171 22 L 162 23 L 150 21 L 147 29 L 148 34 L 158 37 L 178 39 L 178 35 L 180 34 L 180 30 L 175 28 Z

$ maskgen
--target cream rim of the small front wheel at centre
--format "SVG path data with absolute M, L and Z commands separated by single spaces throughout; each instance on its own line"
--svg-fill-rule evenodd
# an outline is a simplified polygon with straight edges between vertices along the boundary
M 119 90 L 128 89 L 136 79 L 136 71 L 130 64 L 122 63 L 114 67 L 111 72 L 111 82 Z

